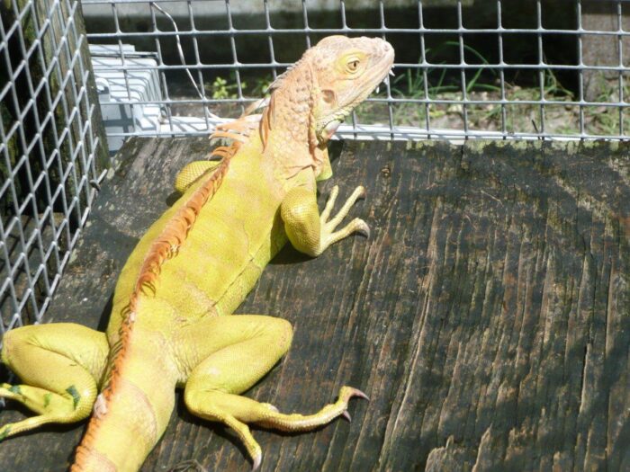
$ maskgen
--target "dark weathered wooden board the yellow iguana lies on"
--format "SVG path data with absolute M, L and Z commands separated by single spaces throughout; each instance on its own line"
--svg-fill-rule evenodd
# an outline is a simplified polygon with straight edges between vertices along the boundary
M 126 255 L 206 146 L 126 145 L 54 321 L 104 326 Z M 267 268 L 238 312 L 287 318 L 295 337 L 248 395 L 304 412 L 348 384 L 371 400 L 350 424 L 256 430 L 263 470 L 630 469 L 630 146 L 351 142 L 333 168 L 320 200 L 365 183 L 353 214 L 373 234 L 316 260 L 288 248 Z M 83 430 L 5 441 L 0 464 L 64 470 Z M 143 470 L 188 459 L 250 468 L 234 434 L 180 398 Z

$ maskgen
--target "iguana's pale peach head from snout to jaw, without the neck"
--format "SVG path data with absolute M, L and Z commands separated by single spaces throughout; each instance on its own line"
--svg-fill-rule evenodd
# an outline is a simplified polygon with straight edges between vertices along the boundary
M 315 76 L 311 112 L 319 144 L 387 78 L 393 58 L 385 40 L 345 36 L 324 38 L 304 54 Z

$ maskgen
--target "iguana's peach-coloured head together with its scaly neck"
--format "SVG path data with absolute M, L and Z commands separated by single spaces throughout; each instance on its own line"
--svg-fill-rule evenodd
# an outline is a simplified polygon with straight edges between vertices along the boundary
M 261 121 L 263 142 L 279 131 L 281 140 L 308 144 L 317 160 L 339 124 L 388 76 L 394 51 L 379 38 L 329 36 L 275 79 Z

